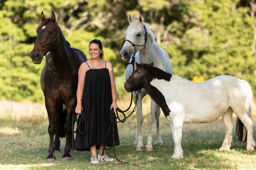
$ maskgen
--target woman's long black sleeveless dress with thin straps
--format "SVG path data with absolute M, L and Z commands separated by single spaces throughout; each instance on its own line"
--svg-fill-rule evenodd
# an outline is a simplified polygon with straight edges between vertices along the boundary
M 87 62 L 86 64 L 88 65 Z M 83 111 L 78 117 L 78 124 L 81 126 L 77 127 L 74 144 L 76 150 L 90 151 L 89 147 L 94 145 L 97 145 L 97 149 L 99 145 L 113 146 L 113 128 L 114 145 L 120 145 L 117 124 L 110 122 L 111 104 L 110 74 L 106 64 L 105 68 L 90 68 L 85 75 Z M 116 118 L 112 120 L 116 122 Z

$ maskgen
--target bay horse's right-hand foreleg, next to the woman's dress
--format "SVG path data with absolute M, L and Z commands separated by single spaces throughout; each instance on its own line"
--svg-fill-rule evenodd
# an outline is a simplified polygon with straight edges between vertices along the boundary
M 72 114 L 73 114 L 73 111 L 70 108 L 68 108 L 67 121 L 66 121 L 66 124 L 64 125 L 64 129 L 66 132 L 66 144 L 64 148 L 65 152 L 62 155 L 61 161 L 69 161 L 71 159 L 70 151 L 71 151 L 72 133 L 73 133 L 72 132 Z

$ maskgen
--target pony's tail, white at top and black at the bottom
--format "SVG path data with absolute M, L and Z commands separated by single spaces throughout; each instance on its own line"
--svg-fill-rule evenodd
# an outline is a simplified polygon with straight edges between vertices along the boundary
M 245 99 L 245 108 L 246 108 L 246 113 L 248 116 L 251 116 L 252 109 L 254 106 L 254 99 L 253 99 L 253 94 L 251 90 L 251 86 L 248 84 L 248 82 L 244 81 L 244 93 L 246 95 Z M 242 121 L 237 117 L 236 118 L 236 136 L 237 139 L 241 142 L 246 142 L 247 140 L 247 130 L 242 123 Z

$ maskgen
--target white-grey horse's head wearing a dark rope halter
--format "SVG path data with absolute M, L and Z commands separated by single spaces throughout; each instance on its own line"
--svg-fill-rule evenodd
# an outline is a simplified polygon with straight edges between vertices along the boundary
M 119 56 L 124 62 L 129 62 L 131 55 L 135 51 L 143 49 L 147 40 L 146 23 L 143 23 L 141 15 L 139 15 L 138 20 L 133 20 L 130 14 L 129 23 L 130 25 L 124 33 L 125 40 L 123 41 L 123 47 L 119 52 Z

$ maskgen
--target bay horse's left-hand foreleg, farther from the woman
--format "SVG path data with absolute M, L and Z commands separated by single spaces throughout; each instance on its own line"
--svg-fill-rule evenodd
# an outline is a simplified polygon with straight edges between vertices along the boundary
M 49 155 L 46 158 L 46 163 L 49 162 L 54 162 L 56 161 L 56 158 L 54 156 L 54 135 L 57 131 L 57 126 L 55 124 L 55 116 L 56 113 L 58 112 L 57 107 L 55 105 L 53 105 L 53 102 L 47 102 L 47 100 L 45 100 L 45 105 L 46 105 L 46 109 L 47 109 L 47 113 L 48 113 L 48 119 L 49 119 L 49 126 L 48 126 L 48 133 L 49 133 Z

